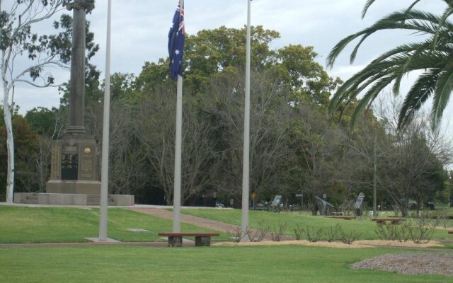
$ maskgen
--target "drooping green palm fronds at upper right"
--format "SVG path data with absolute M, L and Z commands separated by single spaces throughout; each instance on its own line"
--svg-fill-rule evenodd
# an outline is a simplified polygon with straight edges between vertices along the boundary
M 374 1 L 367 0 L 362 17 Z M 453 14 L 453 0 L 439 1 L 447 4 L 447 8 L 440 16 L 415 10 L 413 7 L 420 2 L 415 0 L 406 10 L 390 13 L 369 28 L 345 37 L 333 47 L 327 58 L 328 67 L 333 66 L 346 45 L 360 37 L 360 41 L 350 54 L 352 64 L 362 42 L 380 30 L 400 29 L 427 35 L 420 42 L 399 45 L 385 52 L 369 63 L 365 69 L 345 81 L 331 100 L 329 105 L 331 112 L 340 107 L 345 109 L 360 93 L 363 93 L 362 99 L 352 113 L 351 126 L 353 127 L 360 113 L 372 105 L 373 100 L 384 88 L 393 83 L 393 91 L 398 94 L 403 77 L 413 71 L 421 71 L 406 94 L 398 117 L 398 127 L 406 125 L 430 96 L 433 98 L 432 128 L 437 127 L 453 88 L 453 24 L 449 21 L 449 16 Z

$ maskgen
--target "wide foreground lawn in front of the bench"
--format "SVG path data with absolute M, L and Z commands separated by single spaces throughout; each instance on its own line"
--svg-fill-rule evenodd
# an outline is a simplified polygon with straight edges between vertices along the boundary
M 0 282 L 452 282 L 452 277 L 440 275 L 349 267 L 385 253 L 414 251 L 305 246 L 0 248 Z

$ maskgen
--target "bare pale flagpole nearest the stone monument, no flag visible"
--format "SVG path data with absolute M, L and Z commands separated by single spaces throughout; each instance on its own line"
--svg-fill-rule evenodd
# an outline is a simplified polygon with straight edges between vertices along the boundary
M 99 216 L 99 241 L 107 241 L 107 209 L 108 209 L 108 144 L 110 130 L 110 25 L 111 0 L 107 8 L 107 47 L 105 49 L 105 91 L 104 117 L 102 131 L 102 164 L 101 164 L 101 207 Z

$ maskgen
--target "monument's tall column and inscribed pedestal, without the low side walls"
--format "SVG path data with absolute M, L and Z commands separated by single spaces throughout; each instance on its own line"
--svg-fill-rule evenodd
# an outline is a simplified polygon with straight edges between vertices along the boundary
M 94 8 L 93 0 L 67 4 L 73 11 L 71 81 L 67 131 L 52 150 L 50 180 L 46 192 L 63 194 L 101 193 L 98 176 L 98 143 L 86 134 L 85 103 L 85 17 Z

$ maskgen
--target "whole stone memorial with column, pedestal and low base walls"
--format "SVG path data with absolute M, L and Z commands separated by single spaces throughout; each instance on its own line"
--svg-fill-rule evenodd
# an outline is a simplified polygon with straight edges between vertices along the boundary
M 94 8 L 94 0 L 74 0 L 67 4 L 73 11 L 71 81 L 67 131 L 52 149 L 50 180 L 45 193 L 14 194 L 14 202 L 37 204 L 99 204 L 98 141 L 86 134 L 85 106 L 85 25 L 86 13 Z M 132 205 L 133 195 L 108 195 L 109 205 Z

